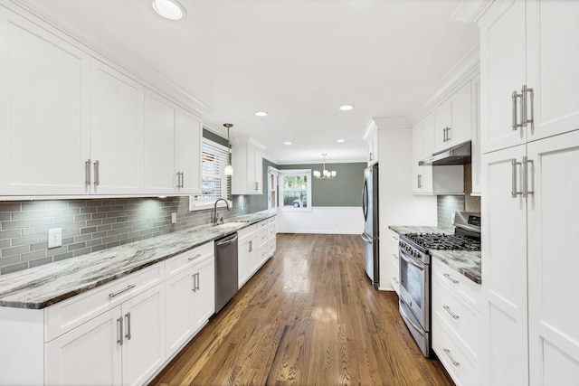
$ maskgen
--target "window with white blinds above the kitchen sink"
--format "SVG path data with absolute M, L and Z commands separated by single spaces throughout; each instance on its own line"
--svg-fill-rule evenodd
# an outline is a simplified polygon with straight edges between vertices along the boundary
M 203 178 L 201 194 L 189 197 L 190 211 L 206 209 L 219 198 L 227 199 L 230 191 L 229 178 L 224 173 L 225 165 L 229 161 L 227 147 L 204 139 L 201 161 Z

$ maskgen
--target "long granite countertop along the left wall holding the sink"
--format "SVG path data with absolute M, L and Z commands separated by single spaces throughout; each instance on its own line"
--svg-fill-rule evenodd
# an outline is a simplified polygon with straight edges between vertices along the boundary
M 0 306 L 31 309 L 51 306 L 274 215 L 243 215 L 228 220 L 245 222 L 235 227 L 220 229 L 203 225 L 2 275 Z

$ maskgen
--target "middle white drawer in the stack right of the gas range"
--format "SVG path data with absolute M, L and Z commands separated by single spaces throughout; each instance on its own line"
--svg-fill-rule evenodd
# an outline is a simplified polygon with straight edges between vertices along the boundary
M 480 353 L 480 314 L 456 294 L 445 288 L 440 280 L 432 282 L 432 319 L 448 327 L 473 356 Z

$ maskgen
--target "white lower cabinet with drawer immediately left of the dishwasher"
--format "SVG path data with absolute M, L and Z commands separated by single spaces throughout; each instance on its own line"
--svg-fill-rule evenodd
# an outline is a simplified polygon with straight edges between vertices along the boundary
M 166 354 L 171 357 L 214 314 L 214 244 L 168 259 L 166 266 Z

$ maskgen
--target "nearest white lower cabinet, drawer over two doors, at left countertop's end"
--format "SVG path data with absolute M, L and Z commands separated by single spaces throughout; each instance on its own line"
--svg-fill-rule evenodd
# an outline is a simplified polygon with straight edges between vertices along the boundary
M 166 360 L 164 310 L 159 284 L 45 344 L 46 384 L 145 383 Z

